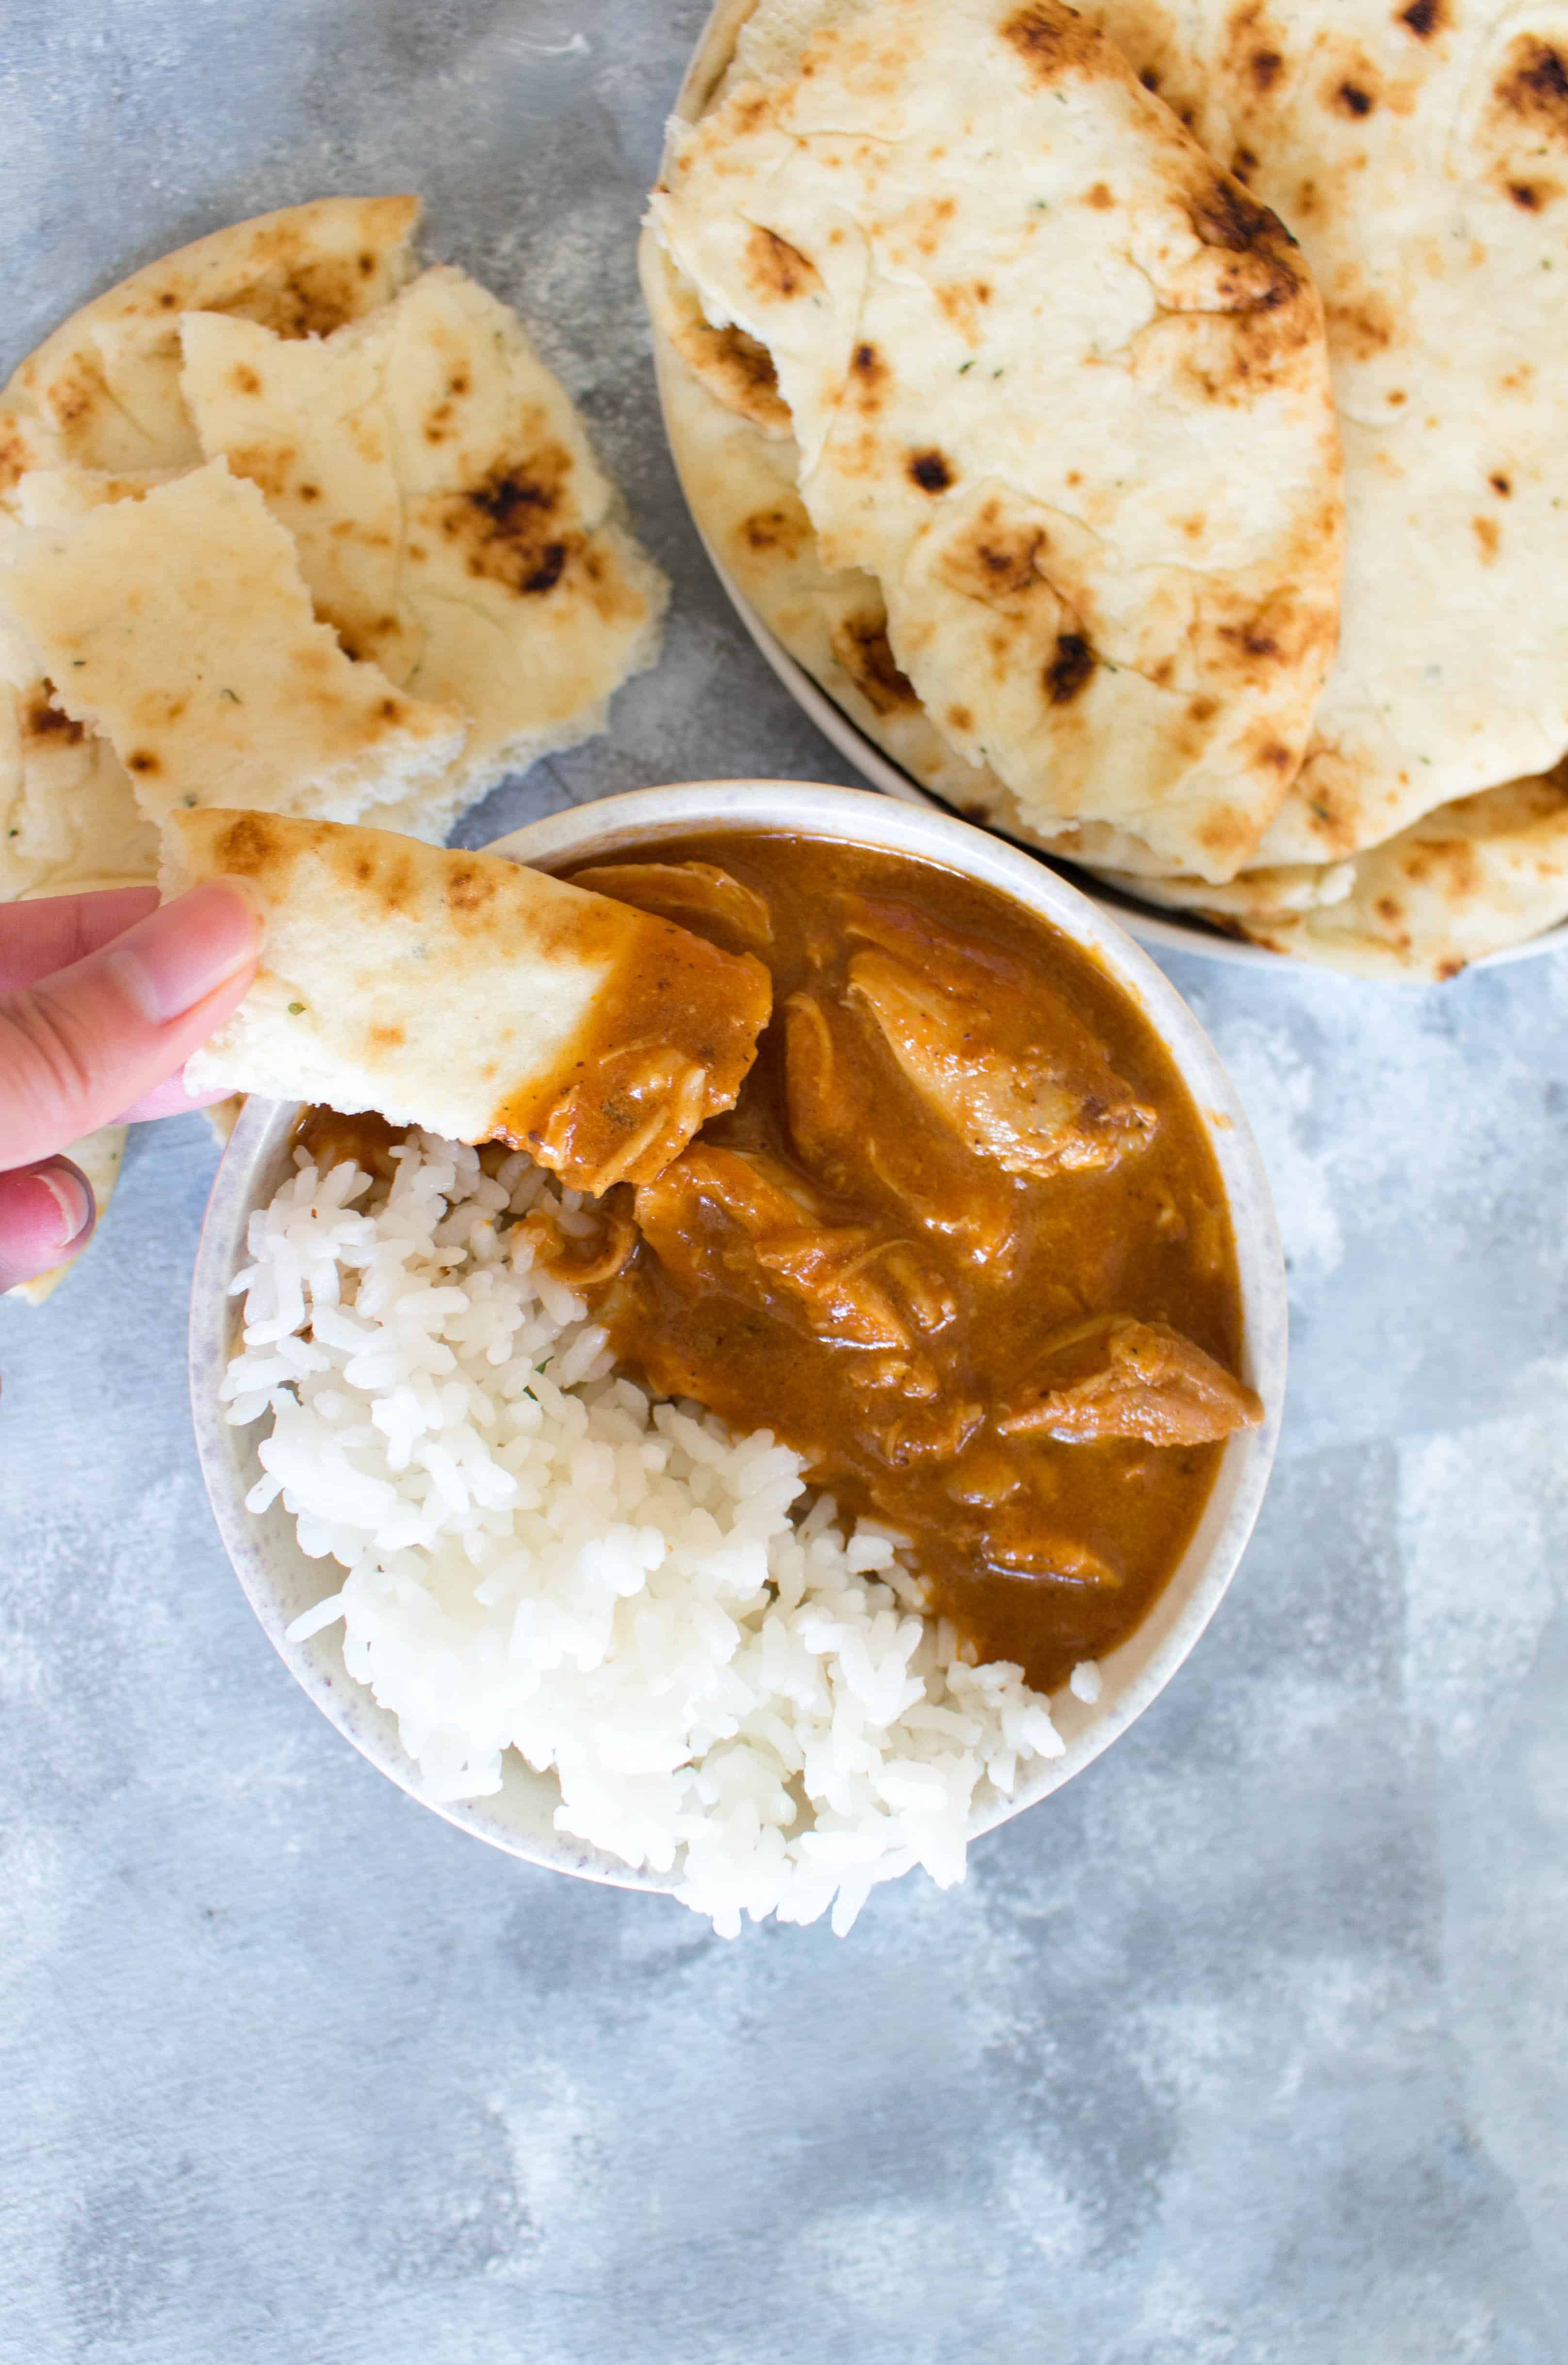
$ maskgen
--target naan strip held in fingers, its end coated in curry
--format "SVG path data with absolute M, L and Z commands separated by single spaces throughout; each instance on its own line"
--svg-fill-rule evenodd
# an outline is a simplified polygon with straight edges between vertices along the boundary
M 733 1107 L 771 1007 L 759 960 L 494 854 L 173 814 L 163 892 L 208 877 L 246 880 L 267 929 L 192 1088 L 511 1142 L 575 1190 L 662 1173 Z

